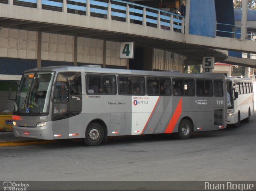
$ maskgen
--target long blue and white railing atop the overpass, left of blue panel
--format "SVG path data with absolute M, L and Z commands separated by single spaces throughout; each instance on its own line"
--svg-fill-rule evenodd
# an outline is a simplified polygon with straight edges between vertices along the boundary
M 184 16 L 122 0 L 0 0 L 1 3 L 140 24 L 184 33 Z

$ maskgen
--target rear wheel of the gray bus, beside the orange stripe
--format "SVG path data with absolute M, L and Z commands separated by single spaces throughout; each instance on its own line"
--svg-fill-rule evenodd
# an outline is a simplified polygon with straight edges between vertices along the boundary
M 176 136 L 179 139 L 189 139 L 192 135 L 192 130 L 191 122 L 187 119 L 183 119 L 179 124 L 179 129 Z

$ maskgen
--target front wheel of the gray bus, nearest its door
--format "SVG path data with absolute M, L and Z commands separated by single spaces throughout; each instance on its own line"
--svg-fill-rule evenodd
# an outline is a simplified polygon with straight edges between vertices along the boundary
M 91 123 L 85 131 L 84 144 L 88 146 L 97 146 L 101 144 L 104 139 L 104 130 L 98 123 Z

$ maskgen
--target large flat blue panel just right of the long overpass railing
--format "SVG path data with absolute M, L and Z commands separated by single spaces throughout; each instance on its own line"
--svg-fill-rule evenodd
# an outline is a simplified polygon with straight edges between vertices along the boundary
M 216 36 L 214 0 L 190 0 L 189 33 L 208 37 Z

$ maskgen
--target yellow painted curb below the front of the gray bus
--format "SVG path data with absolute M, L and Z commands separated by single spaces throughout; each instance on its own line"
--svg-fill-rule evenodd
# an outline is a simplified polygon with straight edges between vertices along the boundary
M 4 141 L 4 142 L 0 142 L 0 147 L 39 145 L 39 144 L 50 144 L 50 143 L 56 143 L 56 142 L 58 142 L 58 140 Z

